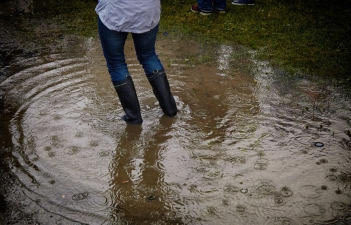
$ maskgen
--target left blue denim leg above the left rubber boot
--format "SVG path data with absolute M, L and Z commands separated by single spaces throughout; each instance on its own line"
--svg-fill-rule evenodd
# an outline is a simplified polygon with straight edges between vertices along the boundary
M 128 33 L 110 30 L 100 19 L 98 21 L 98 29 L 102 50 L 112 82 L 126 79 L 129 72 L 127 63 L 125 63 L 124 43 Z

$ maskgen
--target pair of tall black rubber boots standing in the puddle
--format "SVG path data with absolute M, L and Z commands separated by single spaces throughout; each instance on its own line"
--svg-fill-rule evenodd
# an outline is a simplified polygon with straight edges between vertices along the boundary
M 168 116 L 176 115 L 178 111 L 177 105 L 175 104 L 173 95 L 170 92 L 168 79 L 164 69 L 156 69 L 151 74 L 146 74 L 146 76 L 163 112 Z M 142 118 L 139 100 L 131 76 L 128 76 L 126 80 L 114 82 L 113 85 L 125 112 L 122 119 L 131 124 L 141 123 Z

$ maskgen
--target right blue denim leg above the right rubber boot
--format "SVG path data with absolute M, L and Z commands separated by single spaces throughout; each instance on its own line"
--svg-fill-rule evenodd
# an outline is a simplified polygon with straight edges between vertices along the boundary
M 158 24 L 147 32 L 132 33 L 136 56 L 145 74 L 150 74 L 156 69 L 163 69 L 163 65 L 155 52 L 157 32 Z

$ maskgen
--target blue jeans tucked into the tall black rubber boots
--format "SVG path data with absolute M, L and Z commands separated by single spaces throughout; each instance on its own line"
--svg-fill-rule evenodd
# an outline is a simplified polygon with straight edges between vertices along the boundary
M 98 21 L 99 35 L 102 50 L 107 62 L 108 72 L 112 82 L 121 81 L 129 76 L 127 63 L 124 57 L 124 43 L 128 32 L 110 30 L 100 20 Z M 132 33 L 136 56 L 145 74 L 153 70 L 163 69 L 161 61 L 155 52 L 155 41 L 158 32 L 158 24 L 150 31 L 144 33 Z

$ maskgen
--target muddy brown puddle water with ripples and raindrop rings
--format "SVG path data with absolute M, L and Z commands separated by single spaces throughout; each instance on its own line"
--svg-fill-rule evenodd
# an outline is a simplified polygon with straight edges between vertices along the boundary
M 1 160 L 29 198 L 89 224 L 351 222 L 342 89 L 284 78 L 231 46 L 164 38 L 157 49 L 179 114 L 162 116 L 128 40 L 141 126 L 120 119 L 97 40 L 1 68 L 14 145 Z

